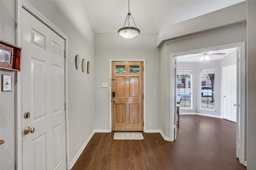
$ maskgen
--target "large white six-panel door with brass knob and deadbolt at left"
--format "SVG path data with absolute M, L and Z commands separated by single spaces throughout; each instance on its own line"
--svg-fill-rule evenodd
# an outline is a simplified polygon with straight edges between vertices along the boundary
M 64 39 L 22 8 L 24 170 L 65 170 Z

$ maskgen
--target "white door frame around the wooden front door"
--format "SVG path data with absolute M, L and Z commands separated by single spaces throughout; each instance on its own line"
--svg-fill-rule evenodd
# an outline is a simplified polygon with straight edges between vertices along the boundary
M 109 132 L 112 132 L 112 107 L 111 107 L 111 85 L 112 85 L 112 61 L 143 61 L 143 131 L 146 132 L 146 59 L 109 59 Z

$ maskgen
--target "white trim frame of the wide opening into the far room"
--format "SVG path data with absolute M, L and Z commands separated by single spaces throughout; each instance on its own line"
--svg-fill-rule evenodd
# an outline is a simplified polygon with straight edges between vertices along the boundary
M 240 107 L 236 109 L 237 115 L 237 123 L 236 123 L 236 157 L 239 158 L 239 162 L 241 164 L 246 164 L 245 159 L 245 130 L 246 130 L 246 113 L 247 113 L 247 105 L 246 105 L 246 49 L 245 49 L 245 42 L 237 42 L 225 45 L 218 45 L 214 47 L 207 47 L 202 49 L 195 49 L 190 51 L 184 51 L 179 53 L 172 53 L 170 54 L 170 141 L 174 141 L 174 130 L 175 130 L 175 110 L 177 105 L 174 103 L 176 101 L 176 88 L 175 88 L 175 57 L 180 55 L 187 55 L 192 53 L 199 53 L 201 51 L 212 51 L 216 49 L 227 49 L 227 48 L 234 48 L 237 47 L 239 49 L 239 55 L 236 56 L 236 69 L 237 73 L 239 73 L 239 77 L 237 76 L 237 105 L 239 104 Z M 238 75 L 238 74 L 237 74 Z M 239 81 L 238 81 L 239 79 Z

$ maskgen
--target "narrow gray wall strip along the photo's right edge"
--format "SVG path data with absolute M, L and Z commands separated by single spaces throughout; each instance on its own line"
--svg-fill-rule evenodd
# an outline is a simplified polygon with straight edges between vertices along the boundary
M 248 117 L 247 170 L 256 168 L 256 1 L 247 1 Z

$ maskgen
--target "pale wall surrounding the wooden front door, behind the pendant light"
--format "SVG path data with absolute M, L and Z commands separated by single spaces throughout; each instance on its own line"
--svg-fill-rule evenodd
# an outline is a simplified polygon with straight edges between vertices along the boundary
M 146 129 L 160 129 L 160 49 L 154 33 L 125 39 L 118 33 L 95 34 L 95 129 L 109 129 L 109 59 L 146 59 Z

